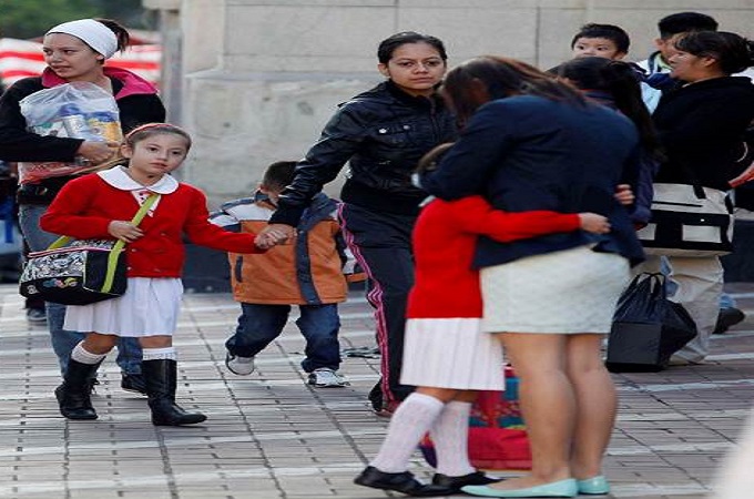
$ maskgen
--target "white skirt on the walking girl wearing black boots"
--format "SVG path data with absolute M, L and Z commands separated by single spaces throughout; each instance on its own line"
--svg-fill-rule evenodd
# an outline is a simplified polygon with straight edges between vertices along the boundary
M 172 336 L 183 284 L 179 278 L 129 277 L 119 298 L 65 307 L 64 328 L 125 337 Z

